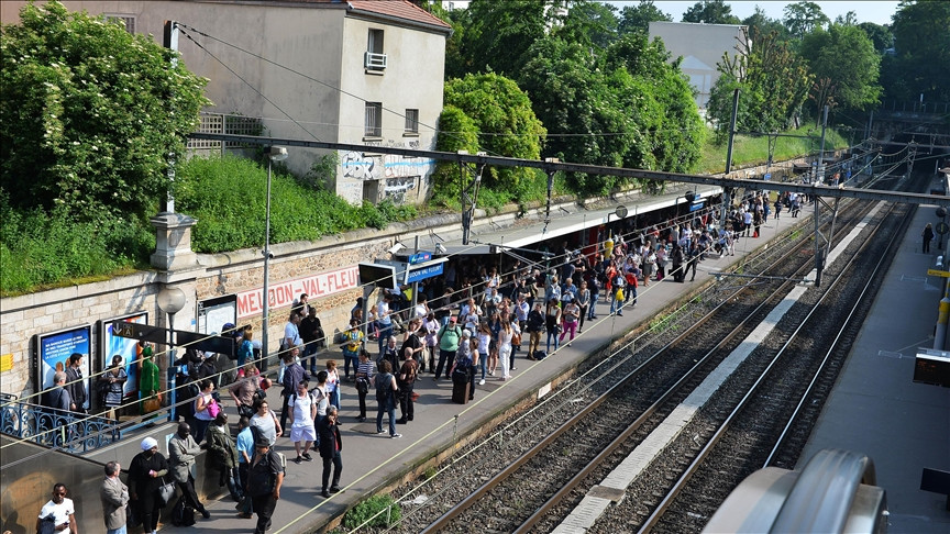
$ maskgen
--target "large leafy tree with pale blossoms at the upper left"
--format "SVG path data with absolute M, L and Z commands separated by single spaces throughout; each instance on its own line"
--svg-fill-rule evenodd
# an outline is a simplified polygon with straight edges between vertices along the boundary
M 84 219 L 154 213 L 206 80 L 119 23 L 26 4 L 0 29 L 0 175 L 14 207 Z

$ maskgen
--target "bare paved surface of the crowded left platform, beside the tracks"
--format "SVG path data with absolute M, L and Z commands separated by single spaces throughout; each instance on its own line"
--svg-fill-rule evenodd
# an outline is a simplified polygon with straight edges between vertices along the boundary
M 413 471 L 418 472 L 424 461 L 451 452 L 466 434 L 476 432 L 496 421 L 512 405 L 522 400 L 543 394 L 553 380 L 575 367 L 587 354 L 608 346 L 614 340 L 622 337 L 638 325 L 649 323 L 669 304 L 683 299 L 700 287 L 711 282 L 710 272 L 728 269 L 734 263 L 761 246 L 770 238 L 789 231 L 796 224 L 810 227 L 810 205 L 803 209 L 797 219 L 783 213 L 782 219 L 769 220 L 762 227 L 759 238 L 740 237 L 736 241 L 736 255 L 722 258 L 710 257 L 699 263 L 695 281 L 677 283 L 667 278 L 661 282 L 651 281 L 639 288 L 637 305 L 625 309 L 622 316 L 610 315 L 609 304 L 603 300 L 597 304 L 598 319 L 586 322 L 583 331 L 571 346 L 562 346 L 556 353 L 541 361 L 530 361 L 520 352 L 516 360 L 512 379 L 501 381 L 500 377 L 488 377 L 484 386 L 477 386 L 475 400 L 468 404 L 451 402 L 452 383 L 450 380 L 433 381 L 428 372 L 420 374 L 415 390 L 420 394 L 416 403 L 415 421 L 397 425 L 400 438 L 377 435 L 375 424 L 375 400 L 367 399 L 368 419 L 356 421 L 358 403 L 352 383 L 344 383 L 341 397 L 341 427 L 343 449 L 343 491 L 330 499 L 320 497 L 322 463 L 314 455 L 311 463 L 295 464 L 294 444 L 287 437 L 277 440 L 276 450 L 288 458 L 287 474 L 281 498 L 273 518 L 272 533 L 316 532 L 321 526 L 333 524 L 335 519 L 365 497 L 398 485 L 399 480 Z M 540 226 L 537 229 L 540 238 Z M 501 243 L 504 232 L 483 238 Z M 751 235 L 751 232 L 750 232 Z M 542 337 L 543 348 L 544 337 Z M 566 340 L 565 340 L 566 344 Z M 334 359 L 342 361 L 340 355 Z M 327 356 L 321 357 L 321 363 Z M 278 389 L 269 391 L 272 407 L 279 407 Z M 230 409 L 233 411 L 233 407 Z M 397 413 L 398 415 L 398 413 Z M 386 422 L 384 418 L 384 429 Z M 504 459 L 501 459 L 504 460 Z M 209 503 L 210 520 L 198 520 L 202 532 L 250 532 L 256 520 L 236 518 L 234 502 L 230 499 Z

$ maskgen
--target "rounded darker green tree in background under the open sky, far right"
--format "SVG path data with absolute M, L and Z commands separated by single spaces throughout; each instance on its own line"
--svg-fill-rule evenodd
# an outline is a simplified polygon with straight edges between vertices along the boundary
M 824 105 L 840 105 L 844 110 L 864 111 L 881 97 L 877 85 L 881 56 L 868 34 L 855 25 L 831 24 L 828 31 L 820 27 L 802 40 L 799 53 L 809 70 L 819 80 L 828 80 L 822 99 Z

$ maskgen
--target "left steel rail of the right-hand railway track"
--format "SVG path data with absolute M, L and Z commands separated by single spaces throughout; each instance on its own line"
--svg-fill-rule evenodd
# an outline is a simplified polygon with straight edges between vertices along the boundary
M 890 210 L 891 211 L 894 210 L 893 204 L 890 207 Z M 868 247 L 870 245 L 870 243 L 872 241 L 871 237 L 876 235 L 876 233 L 881 229 L 882 229 L 881 224 L 879 224 L 877 226 L 874 227 L 871 236 L 865 238 L 864 242 L 861 244 L 861 248 L 859 249 L 859 253 L 860 253 L 860 251 L 863 251 L 865 247 Z M 894 236 L 892 236 L 892 241 L 894 238 L 896 238 L 898 235 L 899 234 L 895 232 Z M 888 245 L 888 247 L 890 247 L 890 245 Z M 815 313 L 817 313 L 817 311 L 819 310 L 821 304 L 825 303 L 825 300 L 831 294 L 831 290 L 835 287 L 837 287 L 837 285 L 840 283 L 842 280 L 844 280 L 846 274 L 849 272 L 849 268 L 853 265 L 857 257 L 858 257 L 858 253 L 851 255 L 851 257 L 849 258 L 844 268 L 842 268 L 841 271 L 838 274 L 838 276 L 835 277 L 835 280 L 832 281 L 832 283 L 825 287 L 825 290 L 822 291 L 821 297 L 811 307 L 811 310 L 809 310 L 806 318 L 795 329 L 795 331 L 788 336 L 788 340 L 783 344 L 782 348 L 780 348 L 776 352 L 776 354 L 772 358 L 772 361 L 762 371 L 762 374 L 755 380 L 755 382 L 752 385 L 752 387 L 749 389 L 749 391 L 742 397 L 742 399 L 739 401 L 739 403 L 732 410 L 732 412 L 729 414 L 729 416 L 726 418 L 726 420 L 719 425 L 719 429 L 712 434 L 712 436 L 709 437 L 706 445 L 704 445 L 704 447 L 696 454 L 695 458 L 689 464 L 689 466 L 683 471 L 683 474 L 676 480 L 676 482 L 673 485 L 673 487 L 666 492 L 666 496 L 663 498 L 663 500 L 656 505 L 656 508 L 653 510 L 653 512 L 650 514 L 650 516 L 648 516 L 647 520 L 643 522 L 643 524 L 641 525 L 638 533 L 650 532 L 656 525 L 656 523 L 662 519 L 663 514 L 669 510 L 669 508 L 672 505 L 673 501 L 676 499 L 676 497 L 678 497 L 680 492 L 686 486 L 686 482 L 689 481 L 689 479 L 693 477 L 693 475 L 696 472 L 696 470 L 698 470 L 699 466 L 703 465 L 703 463 L 706 460 L 706 458 L 712 453 L 712 449 L 716 447 L 716 445 L 719 443 L 719 441 L 721 441 L 722 437 L 726 435 L 726 432 L 731 426 L 732 421 L 741 412 L 744 411 L 744 409 L 751 403 L 753 397 L 759 392 L 759 389 L 762 388 L 764 383 L 766 383 L 766 380 L 765 380 L 766 377 L 771 374 L 772 369 L 780 361 L 780 359 L 782 359 L 785 356 L 786 351 L 788 349 L 791 344 L 797 340 L 798 335 L 803 332 L 805 326 L 809 323 L 809 320 L 811 319 L 811 316 Z M 874 274 L 876 274 L 876 271 Z M 873 279 L 874 274 L 872 274 L 872 276 L 869 278 Z M 863 297 L 864 297 L 864 293 L 862 293 L 860 296 L 860 298 L 863 298 Z M 860 300 L 858 302 L 855 302 L 853 308 L 857 308 L 859 305 L 861 305 Z M 849 314 L 849 318 L 850 316 L 853 316 L 853 315 Z M 847 327 L 847 324 L 842 325 L 841 330 L 843 330 L 844 327 Z M 839 337 L 836 337 L 835 342 L 837 343 L 838 340 L 839 340 Z

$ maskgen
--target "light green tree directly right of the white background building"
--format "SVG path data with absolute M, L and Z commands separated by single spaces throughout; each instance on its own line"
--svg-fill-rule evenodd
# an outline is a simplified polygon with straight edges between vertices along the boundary
M 721 76 L 712 86 L 707 111 L 721 129 L 732 115 L 732 92 L 740 89 L 737 129 L 744 132 L 773 132 L 788 126 L 808 96 L 814 76 L 800 56 L 780 42 L 775 33 L 764 37 L 752 34 L 755 43 L 749 54 L 716 65 Z

